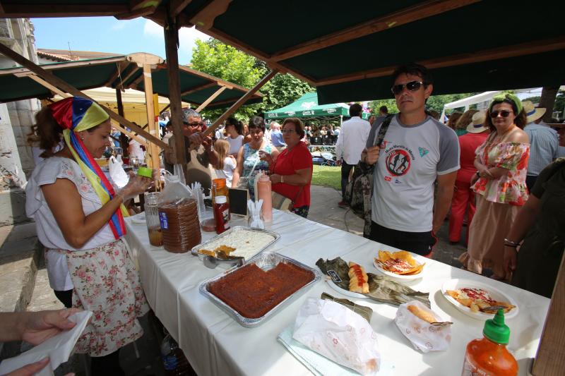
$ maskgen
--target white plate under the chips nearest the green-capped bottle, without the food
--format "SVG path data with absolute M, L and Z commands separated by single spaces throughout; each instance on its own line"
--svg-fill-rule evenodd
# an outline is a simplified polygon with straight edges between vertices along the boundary
M 455 298 L 452 298 L 447 293 L 448 290 L 457 290 L 462 287 L 468 287 L 471 289 L 483 289 L 484 291 L 488 291 L 490 296 L 495 301 L 503 301 L 510 303 L 511 305 L 516 305 L 516 307 L 512 308 L 509 313 L 504 314 L 505 319 L 511 319 L 512 317 L 518 315 L 518 303 L 516 303 L 516 301 L 508 294 L 503 293 L 499 289 L 495 289 L 489 284 L 484 284 L 479 281 L 473 281 L 472 279 L 450 279 L 449 281 L 445 281 L 441 286 L 441 293 L 449 303 L 455 305 L 455 307 L 461 312 L 465 313 L 465 315 L 474 317 L 477 320 L 492 319 L 492 317 L 494 317 L 494 313 L 472 312 L 470 308 L 459 303 Z

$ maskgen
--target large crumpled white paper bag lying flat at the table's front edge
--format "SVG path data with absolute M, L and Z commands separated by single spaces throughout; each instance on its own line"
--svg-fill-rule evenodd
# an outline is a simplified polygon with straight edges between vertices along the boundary
M 369 322 L 334 301 L 308 298 L 296 318 L 296 341 L 362 375 L 376 375 L 381 353 Z

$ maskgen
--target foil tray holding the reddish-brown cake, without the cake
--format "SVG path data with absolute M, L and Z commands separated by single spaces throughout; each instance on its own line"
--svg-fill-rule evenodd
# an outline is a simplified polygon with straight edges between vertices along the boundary
M 273 317 L 278 311 L 283 310 L 283 308 L 287 307 L 287 305 L 290 305 L 292 301 L 295 301 L 296 298 L 298 298 L 303 293 L 305 293 L 308 289 L 311 288 L 312 285 L 314 285 L 317 281 L 321 279 L 321 273 L 319 269 L 313 269 L 307 265 L 302 264 L 302 262 L 298 262 L 297 260 L 293 260 L 292 258 L 285 257 L 283 255 L 280 255 L 279 253 L 274 253 L 274 252 L 266 252 L 266 253 L 262 253 L 261 255 L 256 255 L 255 257 L 251 258 L 251 260 L 245 262 L 245 265 L 256 264 L 261 269 L 268 270 L 277 266 L 279 262 L 294 264 L 297 267 L 302 267 L 302 269 L 307 269 L 314 274 L 314 279 L 312 279 L 307 284 L 302 286 L 300 289 L 295 291 L 295 293 L 292 293 L 292 295 L 288 296 L 284 301 L 278 303 L 278 305 L 275 305 L 275 307 L 273 307 L 273 309 L 271 309 L 268 313 L 256 319 L 250 319 L 248 317 L 244 317 L 240 315 L 236 310 L 231 308 L 230 305 L 227 305 L 226 303 L 221 301 L 218 297 L 216 297 L 213 293 L 210 293 L 210 291 L 208 291 L 208 286 L 210 286 L 210 284 L 213 284 L 215 281 L 218 281 L 218 279 L 227 276 L 227 274 L 236 272 L 237 269 L 239 268 L 232 269 L 228 272 L 221 273 L 216 277 L 208 279 L 207 281 L 203 281 L 200 284 L 200 286 L 198 286 L 198 289 L 200 290 L 200 293 L 203 296 L 206 296 L 208 299 L 210 299 L 210 301 L 215 303 L 215 305 L 218 305 L 219 308 L 224 310 L 225 313 L 232 316 L 235 321 L 239 322 L 239 325 L 242 325 L 242 327 L 246 327 L 246 328 L 258 327 L 259 325 L 263 324 L 263 322 L 269 320 L 270 317 Z

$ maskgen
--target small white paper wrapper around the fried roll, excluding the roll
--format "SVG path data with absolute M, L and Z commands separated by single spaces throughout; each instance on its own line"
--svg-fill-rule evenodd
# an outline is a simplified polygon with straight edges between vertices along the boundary
M 410 301 L 401 304 L 396 311 L 394 322 L 406 338 L 412 342 L 412 346 L 422 353 L 429 351 L 446 351 L 451 343 L 451 327 L 449 325 L 437 326 L 422 320 L 408 310 L 408 305 L 416 305 L 418 308 L 433 315 L 437 322 L 442 322 L 434 311 L 427 308 L 419 301 Z

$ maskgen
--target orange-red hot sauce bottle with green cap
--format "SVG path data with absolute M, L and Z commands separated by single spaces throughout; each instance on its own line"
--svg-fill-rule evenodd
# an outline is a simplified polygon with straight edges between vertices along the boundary
M 483 339 L 474 339 L 467 345 L 461 376 L 515 376 L 518 363 L 506 350 L 510 328 L 504 325 L 504 311 L 498 310 L 493 319 L 484 323 Z

